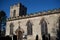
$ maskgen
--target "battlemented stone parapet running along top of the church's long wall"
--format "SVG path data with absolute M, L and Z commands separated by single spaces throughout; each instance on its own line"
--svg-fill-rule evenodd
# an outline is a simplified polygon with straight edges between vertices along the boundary
M 51 15 L 51 14 L 57 14 L 57 13 L 58 14 L 60 13 L 60 9 L 49 10 L 47 12 L 46 11 L 45 12 L 36 12 L 36 13 L 26 15 L 26 16 L 10 17 L 10 18 L 7 18 L 7 21 L 26 19 L 26 18 L 32 18 L 32 17 L 44 16 L 44 15 Z

